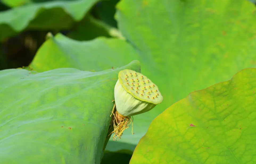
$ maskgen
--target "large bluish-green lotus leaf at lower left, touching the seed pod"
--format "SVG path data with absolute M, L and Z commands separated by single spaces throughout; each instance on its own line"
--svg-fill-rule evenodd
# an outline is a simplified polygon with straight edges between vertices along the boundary
M 123 69 L 0 71 L 0 163 L 100 163 Z

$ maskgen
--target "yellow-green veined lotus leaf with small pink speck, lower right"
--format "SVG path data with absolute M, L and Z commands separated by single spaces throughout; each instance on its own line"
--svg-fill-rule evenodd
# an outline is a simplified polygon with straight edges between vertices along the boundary
M 190 93 L 154 119 L 131 164 L 255 163 L 256 69 Z

